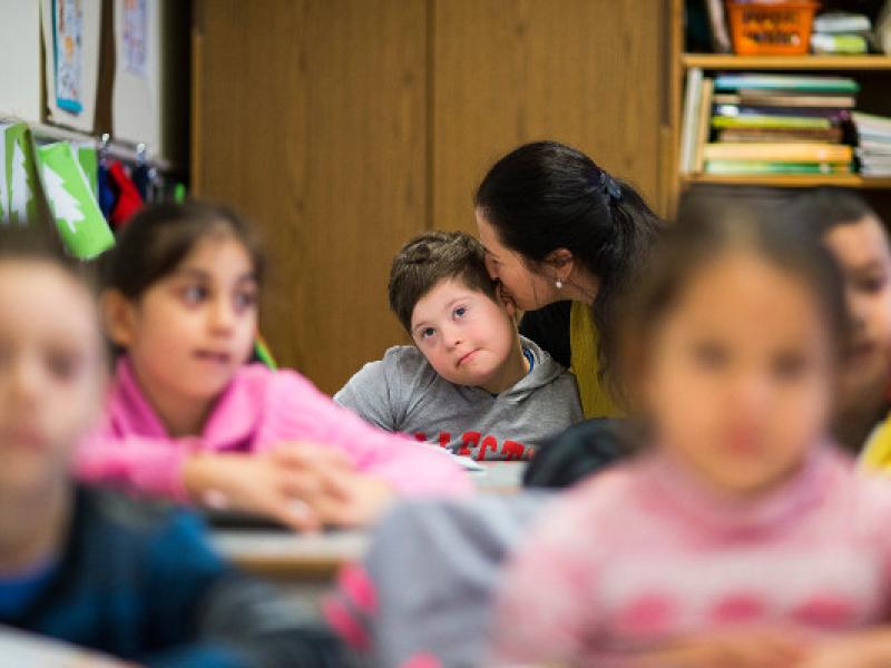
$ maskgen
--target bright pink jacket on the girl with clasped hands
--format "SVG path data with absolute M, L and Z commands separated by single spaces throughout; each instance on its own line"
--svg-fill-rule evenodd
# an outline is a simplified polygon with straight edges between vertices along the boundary
M 444 452 L 372 428 L 302 375 L 260 364 L 235 375 L 200 436 L 170 438 L 126 357 L 118 362 L 106 415 L 78 451 L 77 472 L 87 482 L 185 500 L 180 470 L 188 454 L 262 452 L 295 440 L 339 448 L 359 470 L 389 481 L 402 493 L 453 494 L 470 489 Z

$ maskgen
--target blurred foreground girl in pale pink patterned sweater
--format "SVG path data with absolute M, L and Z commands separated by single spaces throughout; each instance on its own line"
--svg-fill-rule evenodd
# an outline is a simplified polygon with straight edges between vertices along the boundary
M 891 487 L 826 442 L 845 303 L 796 217 L 683 207 L 628 313 L 647 445 L 540 513 L 493 665 L 891 665 Z

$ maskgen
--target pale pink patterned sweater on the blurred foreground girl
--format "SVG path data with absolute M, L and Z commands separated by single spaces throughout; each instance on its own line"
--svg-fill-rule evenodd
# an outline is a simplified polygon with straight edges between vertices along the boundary
M 891 483 L 826 448 L 751 501 L 645 454 L 538 517 L 502 580 L 487 666 L 625 666 L 688 633 L 891 620 Z

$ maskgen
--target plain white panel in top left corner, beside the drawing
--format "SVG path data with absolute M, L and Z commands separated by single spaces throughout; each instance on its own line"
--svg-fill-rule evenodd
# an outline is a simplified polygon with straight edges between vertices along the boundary
M 40 122 L 40 6 L 3 0 L 0 20 L 0 117 Z

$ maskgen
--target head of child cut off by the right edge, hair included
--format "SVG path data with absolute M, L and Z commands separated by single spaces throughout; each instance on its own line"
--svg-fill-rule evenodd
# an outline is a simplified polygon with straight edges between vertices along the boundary
M 840 407 L 882 406 L 891 377 L 891 246 L 866 202 L 854 193 L 820 188 L 804 195 L 813 229 L 844 275 L 851 314 L 851 354 L 842 374 Z

